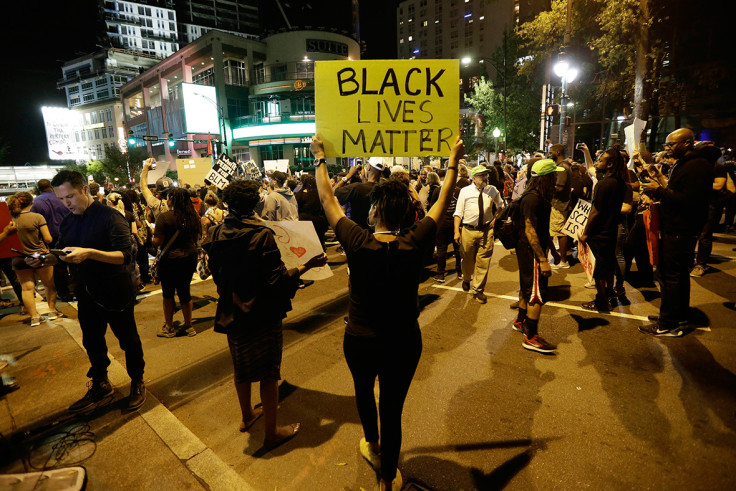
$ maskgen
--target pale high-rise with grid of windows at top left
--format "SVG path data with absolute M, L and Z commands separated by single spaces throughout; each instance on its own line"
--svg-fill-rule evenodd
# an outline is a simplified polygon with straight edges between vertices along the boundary
M 179 49 L 172 0 L 100 1 L 111 46 L 159 58 Z

